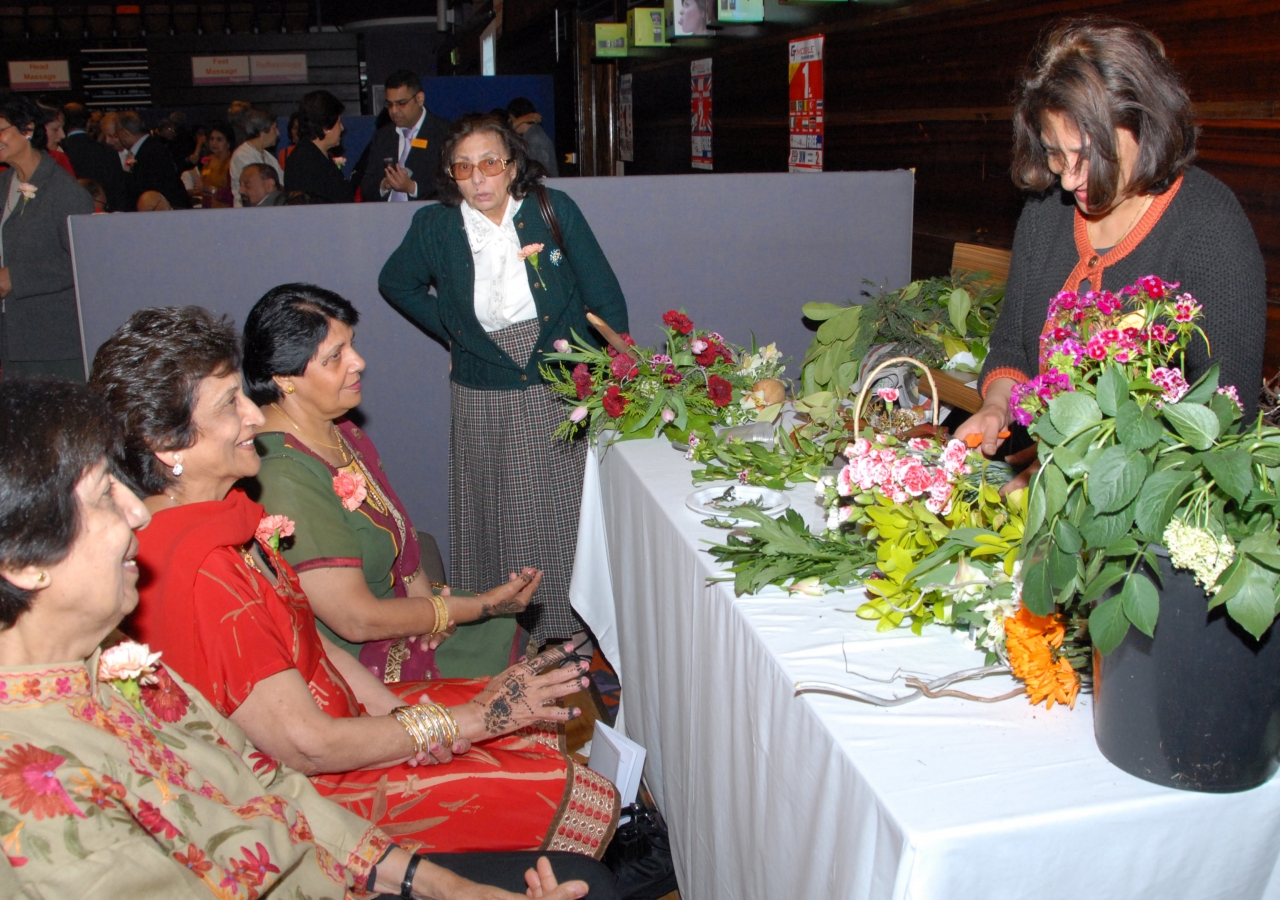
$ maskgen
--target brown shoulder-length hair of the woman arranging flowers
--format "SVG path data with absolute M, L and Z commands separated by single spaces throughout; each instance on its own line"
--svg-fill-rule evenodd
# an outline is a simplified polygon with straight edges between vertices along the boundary
M 1087 146 L 1089 209 L 1110 210 L 1129 195 L 1164 193 L 1196 157 L 1190 99 L 1160 38 L 1114 19 L 1050 26 L 1021 77 L 1014 109 L 1014 183 L 1046 191 L 1057 183 L 1041 142 L 1042 117 L 1074 125 Z M 1138 140 L 1129 184 L 1120 184 L 1115 131 Z

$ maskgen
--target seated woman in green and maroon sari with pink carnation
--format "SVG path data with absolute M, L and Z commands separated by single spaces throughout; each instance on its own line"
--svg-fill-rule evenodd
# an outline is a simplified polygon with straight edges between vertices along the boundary
M 244 387 L 266 417 L 259 502 L 306 524 L 284 557 L 325 636 L 374 675 L 387 682 L 497 675 L 515 662 L 511 616 L 529 604 L 541 574 L 511 574 L 479 597 L 424 575 L 417 534 L 378 449 L 346 417 L 361 399 L 358 319 L 344 298 L 311 284 L 273 288 L 250 311 Z M 430 602 L 433 594 L 444 603 Z

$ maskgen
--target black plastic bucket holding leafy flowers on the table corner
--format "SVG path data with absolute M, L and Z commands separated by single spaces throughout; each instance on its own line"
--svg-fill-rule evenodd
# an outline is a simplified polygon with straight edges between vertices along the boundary
M 1254 640 L 1224 607 L 1207 609 L 1204 590 L 1169 565 L 1164 548 L 1157 557 L 1156 636 L 1130 627 L 1110 654 L 1093 652 L 1098 749 L 1129 775 L 1167 787 L 1257 787 L 1280 766 L 1277 629 Z

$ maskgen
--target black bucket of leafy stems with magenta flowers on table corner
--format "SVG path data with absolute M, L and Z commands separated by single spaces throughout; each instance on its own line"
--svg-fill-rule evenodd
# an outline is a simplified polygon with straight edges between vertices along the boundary
M 1280 750 L 1280 429 L 1217 367 L 1183 378 L 1201 306 L 1148 275 L 1050 305 L 1014 419 L 1039 440 L 1020 558 L 1036 615 L 1087 617 L 1094 734 L 1138 777 L 1245 790 Z

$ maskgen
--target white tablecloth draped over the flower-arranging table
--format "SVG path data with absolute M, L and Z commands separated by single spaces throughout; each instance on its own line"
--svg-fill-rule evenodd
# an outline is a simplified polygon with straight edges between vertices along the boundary
M 1231 795 L 1134 778 L 1098 753 L 1087 696 L 1074 712 L 796 696 L 803 680 L 887 695 L 874 679 L 895 670 L 982 658 L 941 627 L 878 635 L 841 612 L 855 595 L 708 585 L 719 563 L 701 542 L 723 531 L 685 507 L 690 470 L 666 442 L 620 444 L 598 501 L 626 731 L 649 750 L 685 900 L 1280 897 L 1280 778 Z M 791 501 L 818 521 L 812 490 Z

